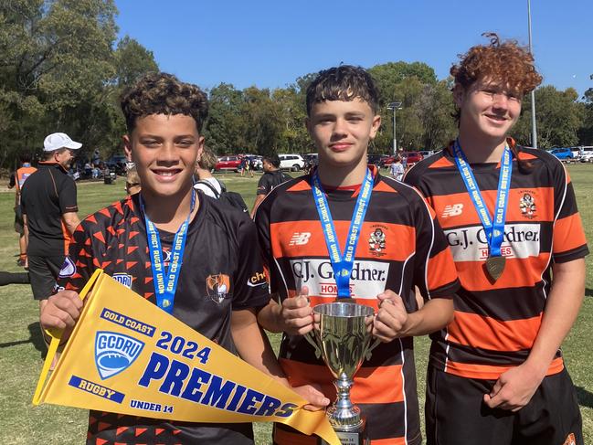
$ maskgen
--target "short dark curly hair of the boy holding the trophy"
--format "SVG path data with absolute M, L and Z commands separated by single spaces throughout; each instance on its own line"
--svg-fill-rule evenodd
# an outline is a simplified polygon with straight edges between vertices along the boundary
M 368 103 L 376 114 L 379 110 L 379 91 L 375 80 L 364 68 L 340 65 L 319 71 L 307 88 L 307 115 L 313 104 L 323 101 L 354 101 Z

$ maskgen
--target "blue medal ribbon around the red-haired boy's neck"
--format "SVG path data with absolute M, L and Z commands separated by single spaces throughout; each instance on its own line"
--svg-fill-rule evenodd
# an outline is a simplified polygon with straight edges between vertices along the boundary
M 493 221 L 490 217 L 488 208 L 484 204 L 482 193 L 478 187 L 470 164 L 465 154 L 461 150 L 459 140 L 453 144 L 453 153 L 455 154 L 455 164 L 461 173 L 461 179 L 465 188 L 470 194 L 473 207 L 478 212 L 478 217 L 482 222 L 482 227 L 486 233 L 488 247 L 490 248 L 490 257 L 501 257 L 501 246 L 504 238 L 504 222 L 506 221 L 506 204 L 509 199 L 509 189 L 511 187 L 511 175 L 513 174 L 513 155 L 508 144 L 504 145 L 503 157 L 501 159 L 501 173 L 498 177 L 498 191 L 496 193 L 496 202 L 494 205 Z

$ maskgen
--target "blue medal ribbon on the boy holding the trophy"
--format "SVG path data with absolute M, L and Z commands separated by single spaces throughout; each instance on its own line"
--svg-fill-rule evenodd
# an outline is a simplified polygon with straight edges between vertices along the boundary
M 355 264 L 356 245 L 360 238 L 360 229 L 365 221 L 366 209 L 373 191 L 373 175 L 366 169 L 365 180 L 360 186 L 360 193 L 356 199 L 355 212 L 350 221 L 350 228 L 346 237 L 344 254 L 340 253 L 338 237 L 335 233 L 334 219 L 327 204 L 325 192 L 317 171 L 312 175 L 312 193 L 317 207 L 317 213 L 322 223 L 325 244 L 330 254 L 332 270 L 334 270 L 335 284 L 338 288 L 338 298 L 350 298 L 350 274 Z

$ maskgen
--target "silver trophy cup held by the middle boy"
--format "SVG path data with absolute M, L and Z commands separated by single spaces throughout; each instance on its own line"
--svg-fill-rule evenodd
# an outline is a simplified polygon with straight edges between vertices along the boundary
M 305 338 L 315 348 L 317 358 L 323 357 L 325 365 L 335 377 L 337 400 L 326 414 L 335 432 L 344 444 L 364 445 L 366 439 L 365 419 L 360 408 L 350 400 L 350 387 L 363 361 L 380 343 L 371 345 L 372 307 L 355 302 L 330 302 L 313 308 L 315 328 Z M 314 341 L 312 340 L 314 338 Z M 321 443 L 325 443 L 323 440 Z

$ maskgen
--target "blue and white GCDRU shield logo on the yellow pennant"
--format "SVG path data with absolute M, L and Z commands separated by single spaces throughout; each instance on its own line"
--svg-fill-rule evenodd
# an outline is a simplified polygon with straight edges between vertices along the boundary
M 132 365 L 144 347 L 129 335 L 98 331 L 95 336 L 95 365 L 101 379 L 106 379 Z

